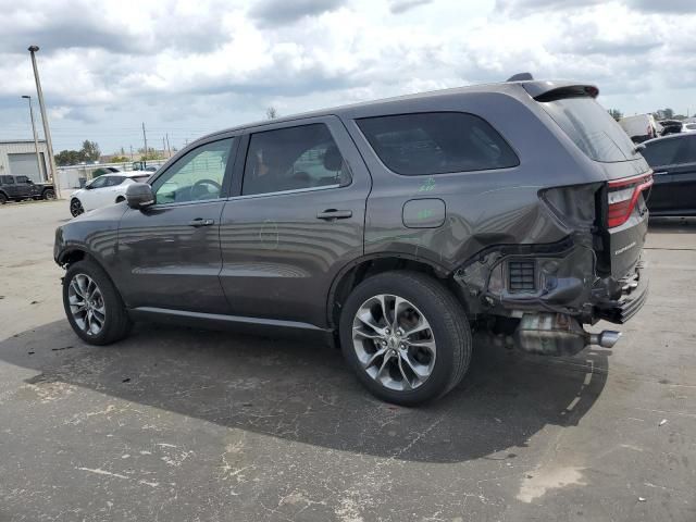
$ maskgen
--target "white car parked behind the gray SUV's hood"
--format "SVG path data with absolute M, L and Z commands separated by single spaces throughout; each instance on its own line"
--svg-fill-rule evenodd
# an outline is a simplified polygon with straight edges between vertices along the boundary
M 70 213 L 79 215 L 94 209 L 117 203 L 126 199 L 126 188 L 132 183 L 145 183 L 151 172 L 119 172 L 103 174 L 89 182 L 85 188 L 75 190 L 70 197 Z

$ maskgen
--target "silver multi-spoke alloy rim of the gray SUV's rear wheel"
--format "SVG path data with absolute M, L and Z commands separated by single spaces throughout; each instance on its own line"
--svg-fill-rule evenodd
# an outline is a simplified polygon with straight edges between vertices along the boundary
M 418 388 L 435 365 L 427 319 L 399 296 L 381 294 L 364 301 L 353 319 L 352 343 L 362 370 L 388 389 Z

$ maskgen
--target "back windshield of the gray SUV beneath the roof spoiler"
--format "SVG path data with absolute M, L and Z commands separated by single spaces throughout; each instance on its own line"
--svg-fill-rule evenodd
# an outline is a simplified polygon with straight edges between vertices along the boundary
M 542 107 L 591 159 L 601 162 L 636 159 L 629 135 L 593 98 L 564 98 L 544 102 Z

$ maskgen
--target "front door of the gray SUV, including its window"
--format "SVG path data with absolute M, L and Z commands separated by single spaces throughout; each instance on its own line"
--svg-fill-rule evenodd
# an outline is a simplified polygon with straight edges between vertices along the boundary
M 129 308 L 227 312 L 220 215 L 235 145 L 229 137 L 191 149 L 151 182 L 153 206 L 123 215 L 117 254 Z

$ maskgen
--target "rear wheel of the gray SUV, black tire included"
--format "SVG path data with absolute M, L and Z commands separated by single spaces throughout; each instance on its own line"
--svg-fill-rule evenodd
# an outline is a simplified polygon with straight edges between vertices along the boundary
M 397 332 L 395 324 L 401 327 Z M 417 332 L 409 335 L 409 330 Z M 360 382 L 380 399 L 401 406 L 447 394 L 461 382 L 471 360 L 463 307 L 436 279 L 417 272 L 385 272 L 360 283 L 343 307 L 339 334 L 344 357 Z

